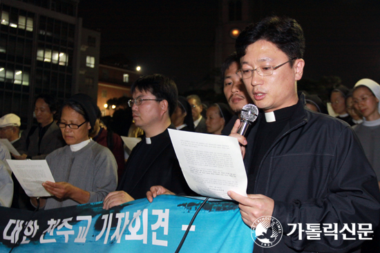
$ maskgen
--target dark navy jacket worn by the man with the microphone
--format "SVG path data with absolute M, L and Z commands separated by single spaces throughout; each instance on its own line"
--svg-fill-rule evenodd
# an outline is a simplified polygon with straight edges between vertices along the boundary
M 254 252 L 348 252 L 363 241 L 343 240 L 338 233 L 307 240 L 292 231 L 289 223 L 379 224 L 380 192 L 370 163 L 357 136 L 346 123 L 304 108 L 303 95 L 296 110 L 258 168 L 254 192 L 274 199 L 272 216 L 283 226 L 283 238 L 274 247 L 254 245 Z M 265 120 L 263 114 L 258 121 Z M 254 124 L 247 137 L 245 166 L 257 132 Z M 298 250 L 298 251 L 296 251 Z

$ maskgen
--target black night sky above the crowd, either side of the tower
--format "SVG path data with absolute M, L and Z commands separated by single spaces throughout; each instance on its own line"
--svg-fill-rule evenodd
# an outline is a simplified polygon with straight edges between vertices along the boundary
M 380 83 L 380 1 L 254 1 L 253 21 L 271 14 L 296 19 L 305 32 L 303 79 L 339 76 L 352 87 Z M 101 57 L 125 54 L 143 74 L 172 77 L 188 90 L 211 72 L 217 0 L 81 0 L 86 28 L 102 32 Z

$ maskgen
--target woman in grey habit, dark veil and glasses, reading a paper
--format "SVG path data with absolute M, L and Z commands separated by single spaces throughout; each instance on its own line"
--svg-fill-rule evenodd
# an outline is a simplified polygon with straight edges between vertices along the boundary
M 57 125 L 67 145 L 46 156 L 57 183 L 42 184 L 53 194 L 45 209 L 103 201 L 116 189 L 115 157 L 88 138 L 97 118 L 95 106 L 86 94 L 75 94 L 63 105 Z

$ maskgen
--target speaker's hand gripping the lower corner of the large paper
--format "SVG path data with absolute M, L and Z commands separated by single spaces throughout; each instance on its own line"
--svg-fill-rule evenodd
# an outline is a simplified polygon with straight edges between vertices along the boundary
M 274 200 L 262 194 L 248 194 L 241 196 L 236 192 L 227 192 L 228 196 L 238 201 L 240 214 L 245 224 L 249 227 L 261 216 L 272 216 Z

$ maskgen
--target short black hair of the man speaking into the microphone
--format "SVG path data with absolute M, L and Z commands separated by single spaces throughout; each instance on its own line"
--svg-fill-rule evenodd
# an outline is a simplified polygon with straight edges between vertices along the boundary
M 263 39 L 274 43 L 283 51 L 288 59 L 301 59 L 305 52 L 305 37 L 301 26 L 294 19 L 288 17 L 267 17 L 262 21 L 245 28 L 236 39 L 238 58 L 245 56 L 248 45 Z M 294 61 L 290 62 L 293 66 Z

